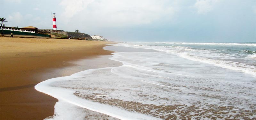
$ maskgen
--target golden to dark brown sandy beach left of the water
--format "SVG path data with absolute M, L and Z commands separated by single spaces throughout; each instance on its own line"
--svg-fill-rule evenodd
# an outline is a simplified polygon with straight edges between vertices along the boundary
M 102 49 L 105 44 L 109 43 L 0 37 L 0 119 L 41 120 L 52 116 L 57 100 L 37 92 L 34 86 L 50 78 L 75 73 L 65 69 L 73 65 L 72 60 L 111 54 Z

